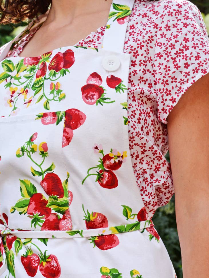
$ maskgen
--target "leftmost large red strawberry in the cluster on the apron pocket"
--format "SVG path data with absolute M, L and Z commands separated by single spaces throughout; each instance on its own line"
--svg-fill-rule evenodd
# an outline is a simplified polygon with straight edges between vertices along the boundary
M 44 216 L 45 218 L 49 217 L 52 210 L 46 205 L 48 204 L 48 201 L 41 193 L 35 193 L 31 196 L 29 205 L 27 208 L 27 214 L 28 215 L 34 215 L 38 214 L 39 216 Z

